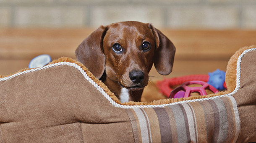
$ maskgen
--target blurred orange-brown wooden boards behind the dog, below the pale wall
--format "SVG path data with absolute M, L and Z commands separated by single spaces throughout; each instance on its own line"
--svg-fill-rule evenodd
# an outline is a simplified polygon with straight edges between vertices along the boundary
M 94 29 L 0 29 L 0 75 L 27 68 L 32 58 L 49 54 L 52 59 L 76 58 L 77 46 Z M 256 45 L 256 31 L 249 30 L 169 30 L 162 33 L 174 43 L 176 55 L 173 71 L 166 78 L 207 74 L 226 70 L 236 50 Z M 161 76 L 152 68 L 151 80 Z

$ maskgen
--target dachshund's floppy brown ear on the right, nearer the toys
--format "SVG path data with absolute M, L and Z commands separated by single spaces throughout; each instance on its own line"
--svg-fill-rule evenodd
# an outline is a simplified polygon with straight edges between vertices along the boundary
M 154 66 L 161 75 L 168 75 L 172 72 L 175 46 L 161 31 L 151 24 L 149 24 L 149 27 L 155 37 Z

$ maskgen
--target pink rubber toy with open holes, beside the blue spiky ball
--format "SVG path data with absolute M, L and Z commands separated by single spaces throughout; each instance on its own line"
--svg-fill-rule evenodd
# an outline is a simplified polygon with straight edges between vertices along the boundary
M 201 87 L 188 87 L 191 84 L 199 84 L 202 85 Z M 219 91 L 214 88 L 212 85 L 204 81 L 193 80 L 183 83 L 182 85 L 178 86 L 174 90 L 172 90 L 169 98 L 187 98 L 193 92 L 198 92 L 200 95 L 207 95 L 206 89 L 211 90 L 213 93 L 218 93 Z

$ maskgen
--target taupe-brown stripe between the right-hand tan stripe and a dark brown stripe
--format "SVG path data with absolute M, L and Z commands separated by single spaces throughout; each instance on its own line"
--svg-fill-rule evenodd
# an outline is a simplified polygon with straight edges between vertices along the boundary
M 214 133 L 214 114 L 212 110 L 212 106 L 207 101 L 200 101 L 201 105 L 204 108 L 205 116 L 206 116 L 206 130 L 207 130 L 207 140 L 208 143 L 212 141 L 213 133 Z

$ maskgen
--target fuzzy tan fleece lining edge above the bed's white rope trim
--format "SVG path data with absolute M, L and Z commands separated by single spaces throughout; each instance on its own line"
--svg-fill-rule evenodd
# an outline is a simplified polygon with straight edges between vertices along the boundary
M 228 90 L 225 90 L 225 91 L 222 91 L 222 92 L 219 92 L 219 93 L 214 93 L 214 94 L 206 95 L 206 96 L 191 96 L 191 97 L 188 97 L 188 98 L 161 99 L 161 100 L 152 101 L 150 103 L 146 103 L 146 102 L 133 102 L 133 101 L 130 101 L 128 103 L 121 103 L 120 100 L 118 100 L 118 98 L 114 95 L 114 93 L 112 93 L 109 90 L 109 88 L 107 88 L 107 86 L 104 85 L 104 83 L 102 83 L 102 81 L 100 81 L 99 79 L 95 78 L 94 75 L 91 74 L 91 72 L 88 70 L 88 68 L 86 68 L 83 64 L 81 64 L 77 60 L 73 60 L 72 58 L 62 57 L 62 58 L 59 58 L 57 60 L 53 60 L 48 65 L 53 64 L 53 63 L 60 63 L 60 62 L 70 62 L 70 63 L 77 64 L 78 66 L 80 66 L 86 72 L 86 74 L 95 83 L 97 83 L 107 93 L 107 95 L 109 95 L 112 98 L 112 100 L 114 100 L 118 104 L 121 104 L 121 105 L 161 105 L 161 104 L 169 104 L 169 103 L 180 102 L 180 101 L 185 101 L 185 100 L 193 100 L 193 99 L 199 99 L 199 98 L 209 98 L 209 97 L 213 97 L 213 96 L 218 96 L 218 95 L 223 95 L 223 94 L 231 93 L 233 90 L 235 90 L 235 86 L 236 86 L 236 65 L 237 65 L 238 57 L 243 53 L 244 50 L 251 49 L 251 48 L 256 48 L 256 46 L 252 45 L 250 47 L 240 48 L 230 58 L 230 60 L 229 60 L 229 62 L 227 64 L 227 71 L 226 71 L 226 77 L 225 77 L 226 78 L 226 85 L 227 85 L 227 89 Z M 25 70 L 29 70 L 29 68 L 20 70 L 17 73 L 20 73 L 20 72 L 25 71 Z M 10 75 L 13 75 L 13 74 L 10 74 Z M 10 75 L 7 75 L 7 76 L 0 75 L 0 78 L 8 77 Z

